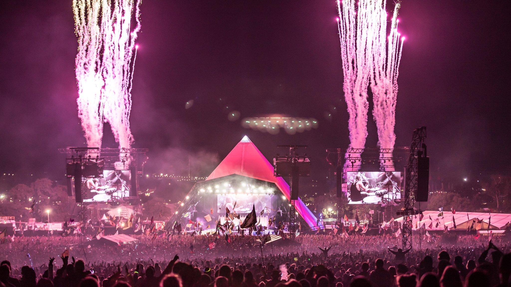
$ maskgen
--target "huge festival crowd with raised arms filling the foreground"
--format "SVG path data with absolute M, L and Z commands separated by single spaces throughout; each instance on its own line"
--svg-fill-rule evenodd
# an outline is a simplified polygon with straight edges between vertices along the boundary
M 135 244 L 119 246 L 90 246 L 74 236 L 17 237 L 0 246 L 0 287 L 511 286 L 504 236 L 459 235 L 446 243 L 438 235 L 404 251 L 392 235 L 300 234 L 299 246 L 264 248 L 258 236 L 211 245 L 213 237 L 137 236 Z

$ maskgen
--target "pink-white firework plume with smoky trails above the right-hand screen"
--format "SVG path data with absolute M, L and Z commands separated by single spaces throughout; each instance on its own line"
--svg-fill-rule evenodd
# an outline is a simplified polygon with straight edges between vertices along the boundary
M 337 1 L 337 8 L 344 75 L 343 91 L 350 114 L 350 147 L 365 147 L 369 109 L 367 89 L 371 83 L 373 93 L 378 93 L 374 97 L 374 118 L 378 126 L 379 145 L 382 148 L 393 148 L 396 140 L 393 127 L 397 74 L 401 58 L 401 50 L 396 53 L 398 46 L 401 47 L 397 42 L 399 34 L 396 16 L 399 3 L 393 13 L 388 51 L 385 45 L 387 16 L 384 0 L 360 0 L 358 4 L 356 0 Z M 352 153 L 352 156 L 360 155 Z

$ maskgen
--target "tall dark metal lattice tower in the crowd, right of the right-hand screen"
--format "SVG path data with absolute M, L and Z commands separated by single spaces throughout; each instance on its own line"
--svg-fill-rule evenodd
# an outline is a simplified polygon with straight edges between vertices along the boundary
M 417 192 L 417 157 L 424 154 L 424 140 L 426 139 L 426 127 L 420 127 L 413 131 L 410 157 L 406 168 L 405 179 L 405 205 L 402 210 L 396 212 L 403 216 L 403 250 L 412 247 L 412 216 L 420 214 L 421 210 L 413 209 L 415 194 Z

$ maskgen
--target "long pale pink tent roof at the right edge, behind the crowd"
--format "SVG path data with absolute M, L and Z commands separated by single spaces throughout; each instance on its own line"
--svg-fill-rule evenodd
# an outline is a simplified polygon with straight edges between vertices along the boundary
M 511 222 L 511 214 L 509 213 L 489 213 L 489 212 L 464 212 L 464 211 L 456 211 L 456 213 L 452 213 L 451 211 L 443 211 L 444 216 L 438 217 L 440 211 L 438 210 L 426 210 L 423 212 L 424 217 L 422 221 L 419 221 L 419 216 L 412 217 L 412 230 L 416 230 L 415 223 L 417 223 L 417 227 L 426 225 L 427 230 L 443 230 L 444 226 L 447 226 L 449 229 L 454 227 L 454 221 L 456 222 L 457 229 L 467 229 L 472 225 L 472 220 L 479 219 L 482 220 L 481 229 L 487 229 L 488 224 L 490 223 L 490 229 L 502 229 L 505 228 L 507 223 Z M 431 220 L 430 220 L 431 217 Z M 490 217 L 492 218 L 490 220 Z M 438 219 L 438 227 L 436 226 L 436 220 Z M 396 219 L 398 222 L 403 221 L 403 217 Z M 428 228 L 430 223 L 433 223 L 432 228 Z

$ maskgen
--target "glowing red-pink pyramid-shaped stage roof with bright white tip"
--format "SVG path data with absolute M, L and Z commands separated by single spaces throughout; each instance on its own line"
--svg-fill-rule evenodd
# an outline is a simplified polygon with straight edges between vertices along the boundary
M 273 176 L 273 165 L 246 135 L 206 178 L 206 181 L 233 174 L 273 182 L 289 200 L 289 184 L 282 177 Z M 310 227 L 316 225 L 316 217 L 301 199 L 298 199 L 296 203 L 296 211 Z

